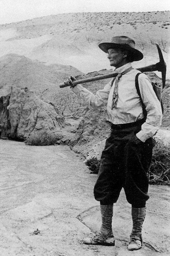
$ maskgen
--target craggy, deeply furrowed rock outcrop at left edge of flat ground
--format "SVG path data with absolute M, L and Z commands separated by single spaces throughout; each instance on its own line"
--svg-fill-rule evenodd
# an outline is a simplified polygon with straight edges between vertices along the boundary
M 44 102 L 39 91 L 13 87 L 11 93 L 0 97 L 0 138 L 29 140 L 48 136 L 50 144 L 71 140 L 64 130 L 65 118 L 52 104 Z

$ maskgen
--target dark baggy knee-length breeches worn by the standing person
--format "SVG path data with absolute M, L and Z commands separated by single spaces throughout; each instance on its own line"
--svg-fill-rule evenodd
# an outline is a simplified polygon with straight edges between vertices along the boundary
M 127 201 L 136 204 L 149 199 L 147 171 L 152 160 L 152 139 L 135 142 L 141 125 L 111 129 L 102 151 L 99 176 L 94 186 L 94 197 L 101 204 L 116 203 L 122 188 Z

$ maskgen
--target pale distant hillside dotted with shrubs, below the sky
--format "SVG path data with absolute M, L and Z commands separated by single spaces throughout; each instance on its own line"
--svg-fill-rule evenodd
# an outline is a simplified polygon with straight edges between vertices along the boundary
M 142 67 L 158 60 L 154 43 L 159 43 L 168 62 L 169 29 L 169 11 L 51 15 L 0 25 L 0 56 L 16 53 L 88 73 L 110 68 L 106 55 L 98 48 L 99 42 L 113 35 L 127 35 L 144 53 L 144 59 L 136 63 Z

